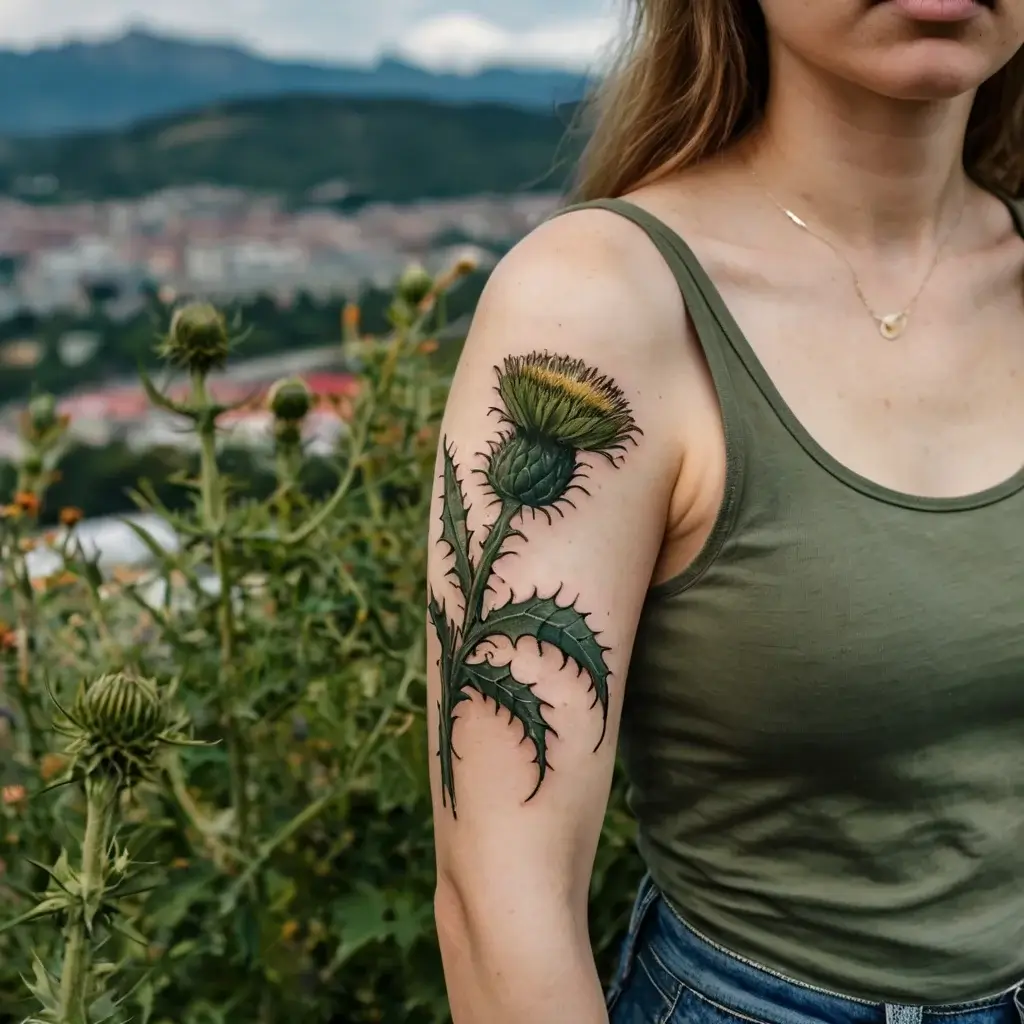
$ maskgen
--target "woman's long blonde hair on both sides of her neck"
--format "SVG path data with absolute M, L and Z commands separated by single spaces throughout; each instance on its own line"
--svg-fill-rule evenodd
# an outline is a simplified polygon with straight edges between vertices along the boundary
M 632 0 L 622 54 L 585 106 L 580 200 L 613 198 L 715 156 L 755 127 L 768 97 L 758 0 Z M 1024 50 L 978 91 L 964 146 L 981 184 L 1024 193 Z

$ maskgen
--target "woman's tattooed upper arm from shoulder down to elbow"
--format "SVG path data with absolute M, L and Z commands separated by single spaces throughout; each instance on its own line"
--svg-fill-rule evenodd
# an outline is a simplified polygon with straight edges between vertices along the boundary
M 608 215 L 565 219 L 493 275 L 438 452 L 429 728 L 463 902 L 586 900 L 678 466 L 664 282 L 648 301 Z

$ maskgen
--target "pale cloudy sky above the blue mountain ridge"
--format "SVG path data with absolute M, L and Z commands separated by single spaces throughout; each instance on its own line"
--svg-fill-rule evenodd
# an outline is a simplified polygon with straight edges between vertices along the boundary
M 399 53 L 427 67 L 588 70 L 625 0 L 0 0 L 0 47 L 110 37 L 130 26 L 247 43 L 279 56 L 365 62 Z

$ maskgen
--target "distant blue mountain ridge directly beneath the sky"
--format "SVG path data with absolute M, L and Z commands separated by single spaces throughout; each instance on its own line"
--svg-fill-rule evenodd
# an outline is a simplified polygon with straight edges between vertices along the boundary
M 551 111 L 582 96 L 580 75 L 490 68 L 435 74 L 395 59 L 373 68 L 273 60 L 242 46 L 138 30 L 120 39 L 0 50 L 0 135 L 53 135 L 208 103 L 289 93 L 500 102 Z

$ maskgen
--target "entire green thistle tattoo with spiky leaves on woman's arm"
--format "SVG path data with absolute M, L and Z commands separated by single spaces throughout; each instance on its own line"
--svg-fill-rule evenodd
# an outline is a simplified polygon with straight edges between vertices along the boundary
M 495 713 L 508 712 L 509 722 L 522 727 L 522 741 L 532 744 L 537 765 L 537 784 L 526 798 L 531 800 L 541 788 L 550 769 L 548 736 L 554 730 L 544 717 L 551 707 L 520 682 L 510 666 L 495 666 L 488 660 L 470 660 L 481 644 L 506 637 L 514 645 L 529 637 L 543 653 L 544 645 L 554 647 L 562 665 L 572 662 L 578 674 L 590 678 L 594 692 L 592 708 L 600 707 L 602 718 L 600 746 L 604 741 L 608 717 L 608 666 L 604 659 L 609 649 L 598 641 L 598 634 L 587 624 L 588 614 L 575 602 L 558 603 L 558 593 L 542 597 L 535 592 L 526 600 L 509 601 L 483 614 L 483 599 L 489 589 L 495 563 L 512 538 L 525 541 L 521 530 L 522 514 L 530 510 L 551 522 L 551 513 L 564 515 L 563 507 L 574 508 L 568 495 L 587 489 L 586 463 L 581 456 L 603 456 L 617 466 L 627 443 L 636 443 L 642 434 L 633 420 L 622 390 L 609 378 L 582 359 L 548 352 L 513 355 L 496 368 L 496 388 L 501 406 L 492 410 L 499 415 L 502 429 L 483 455 L 484 468 L 474 470 L 486 481 L 487 489 L 500 511 L 490 525 L 479 554 L 470 555 L 468 528 L 469 506 L 463 494 L 456 464 L 456 453 L 443 441 L 441 471 L 441 544 L 447 549 L 451 568 L 464 602 L 462 625 L 456 626 L 442 602 L 430 593 L 429 613 L 440 642 L 438 662 L 441 698 L 438 702 L 438 757 L 441 772 L 441 800 L 456 815 L 454 761 L 458 758 L 452 735 L 457 721 L 456 710 L 470 698 L 470 691 L 493 700 Z M 596 750 L 597 748 L 595 748 Z

